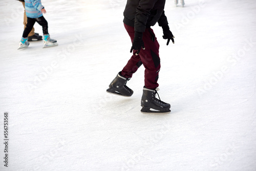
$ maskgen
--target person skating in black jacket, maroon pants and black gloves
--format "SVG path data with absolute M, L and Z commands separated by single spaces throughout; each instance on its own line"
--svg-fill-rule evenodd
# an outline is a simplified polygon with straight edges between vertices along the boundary
M 126 86 L 133 74 L 143 64 L 145 68 L 144 87 L 141 98 L 141 112 L 168 113 L 170 104 L 160 100 L 157 93 L 160 71 L 159 44 L 153 30 L 150 28 L 157 22 L 163 29 L 163 38 L 167 44 L 172 40 L 173 33 L 169 30 L 167 18 L 164 14 L 165 1 L 128 0 L 124 14 L 124 28 L 132 40 L 133 52 L 131 59 L 110 83 L 108 93 L 130 97 L 133 90 Z M 158 98 L 156 97 L 158 95 Z

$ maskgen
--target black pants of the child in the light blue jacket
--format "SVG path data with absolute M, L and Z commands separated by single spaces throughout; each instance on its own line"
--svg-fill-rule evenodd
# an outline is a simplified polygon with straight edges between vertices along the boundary
M 35 22 L 37 22 L 40 26 L 42 26 L 42 33 L 48 34 L 48 23 L 44 16 L 41 16 L 39 18 L 29 18 L 28 17 L 28 23 L 27 26 L 23 32 L 23 37 L 28 37 L 30 31 L 32 30 Z

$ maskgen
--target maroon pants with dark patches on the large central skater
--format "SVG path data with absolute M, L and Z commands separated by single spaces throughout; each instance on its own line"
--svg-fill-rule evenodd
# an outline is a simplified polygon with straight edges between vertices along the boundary
M 134 27 L 125 24 L 124 27 L 133 42 Z M 145 87 L 148 89 L 155 89 L 159 86 L 157 83 L 160 70 L 159 44 L 157 38 L 154 41 L 152 40 L 153 36 L 155 37 L 153 30 L 146 28 L 142 37 L 145 50 L 141 48 L 139 55 L 135 55 L 137 50 L 133 50 L 133 56 L 127 62 L 121 73 L 126 78 L 132 78 L 133 73 L 143 64 L 145 67 Z

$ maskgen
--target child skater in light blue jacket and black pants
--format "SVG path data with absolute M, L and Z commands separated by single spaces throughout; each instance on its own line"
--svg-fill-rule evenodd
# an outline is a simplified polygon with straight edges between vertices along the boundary
M 51 47 L 57 46 L 57 40 L 51 39 L 48 33 L 48 23 L 47 20 L 42 16 L 42 13 L 46 13 L 45 7 L 41 5 L 40 0 L 25 0 L 25 9 L 27 14 L 27 25 L 23 32 L 22 39 L 19 42 L 19 48 L 23 49 L 29 46 L 28 35 L 32 30 L 35 22 L 42 26 L 42 32 L 44 33 L 44 46 Z

